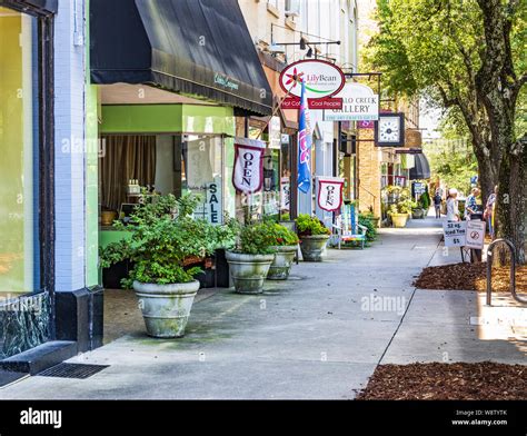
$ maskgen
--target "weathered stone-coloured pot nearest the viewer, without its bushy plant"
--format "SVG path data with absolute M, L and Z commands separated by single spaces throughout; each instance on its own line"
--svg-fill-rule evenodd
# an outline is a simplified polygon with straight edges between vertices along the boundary
M 156 338 L 183 336 L 198 289 L 198 280 L 171 285 L 133 281 L 147 334 Z

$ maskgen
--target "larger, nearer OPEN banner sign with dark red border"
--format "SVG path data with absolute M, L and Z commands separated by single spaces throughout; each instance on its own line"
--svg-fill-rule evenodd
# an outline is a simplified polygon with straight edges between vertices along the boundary
M 235 139 L 232 185 L 243 194 L 261 190 L 264 185 L 264 152 L 266 143 L 256 139 Z

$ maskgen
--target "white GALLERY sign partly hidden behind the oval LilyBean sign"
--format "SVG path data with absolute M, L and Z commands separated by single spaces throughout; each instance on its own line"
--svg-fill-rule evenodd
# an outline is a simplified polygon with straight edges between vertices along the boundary
M 379 119 L 379 96 L 366 85 L 349 81 L 335 97 L 342 99 L 341 109 L 324 111 L 325 121 L 375 121 Z

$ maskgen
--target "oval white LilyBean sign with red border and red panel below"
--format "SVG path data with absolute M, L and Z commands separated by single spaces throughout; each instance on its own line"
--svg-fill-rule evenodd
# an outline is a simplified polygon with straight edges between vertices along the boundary
M 306 86 L 306 98 L 310 109 L 340 109 L 342 99 L 335 97 L 345 86 L 346 78 L 336 65 L 325 60 L 299 60 L 282 70 L 280 87 L 289 92 L 282 109 L 299 109 L 301 86 Z

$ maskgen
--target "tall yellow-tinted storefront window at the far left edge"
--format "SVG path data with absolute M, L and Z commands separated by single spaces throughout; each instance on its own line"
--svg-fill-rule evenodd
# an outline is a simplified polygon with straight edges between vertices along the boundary
M 37 19 L 0 8 L 0 293 L 40 289 Z

